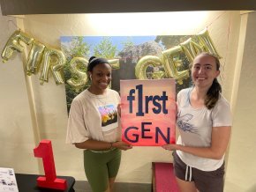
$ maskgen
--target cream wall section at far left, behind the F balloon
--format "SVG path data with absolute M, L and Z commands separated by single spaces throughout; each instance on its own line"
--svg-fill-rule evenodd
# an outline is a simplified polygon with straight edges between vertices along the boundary
M 15 25 L 15 18 L 0 16 L 1 52 L 11 33 L 16 30 Z M 35 131 L 20 54 L 7 63 L 1 59 L 0 90 L 0 166 L 13 167 L 18 173 L 36 174 L 38 159 L 34 158 L 33 152 Z

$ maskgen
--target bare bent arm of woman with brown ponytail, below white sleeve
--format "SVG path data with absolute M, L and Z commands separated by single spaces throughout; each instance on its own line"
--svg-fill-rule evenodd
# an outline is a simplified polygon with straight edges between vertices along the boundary
M 162 147 L 166 150 L 180 150 L 202 158 L 222 159 L 230 141 L 231 127 L 214 127 L 212 129 L 212 142 L 209 147 L 191 147 L 181 144 L 166 144 Z

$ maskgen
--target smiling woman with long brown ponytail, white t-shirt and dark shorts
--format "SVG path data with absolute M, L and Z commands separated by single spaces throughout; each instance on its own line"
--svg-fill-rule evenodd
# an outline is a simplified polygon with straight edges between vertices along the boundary
M 222 192 L 231 113 L 217 81 L 219 59 L 209 53 L 197 55 L 191 74 L 193 86 L 177 94 L 177 144 L 162 147 L 173 151 L 181 192 Z

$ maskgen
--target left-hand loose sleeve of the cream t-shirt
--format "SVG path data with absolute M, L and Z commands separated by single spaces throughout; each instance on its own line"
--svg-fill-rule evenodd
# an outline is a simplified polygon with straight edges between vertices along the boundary
M 79 100 L 73 100 L 70 109 L 66 143 L 74 144 L 88 140 L 88 132 L 84 122 L 84 111 Z

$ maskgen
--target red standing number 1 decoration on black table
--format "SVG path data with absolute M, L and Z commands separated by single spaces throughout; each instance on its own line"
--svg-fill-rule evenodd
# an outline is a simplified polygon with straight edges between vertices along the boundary
M 67 182 L 64 179 L 56 178 L 56 169 L 54 164 L 51 141 L 41 140 L 40 144 L 34 148 L 34 157 L 41 158 L 45 177 L 37 178 L 37 186 L 41 188 L 56 188 L 64 190 L 67 188 Z

